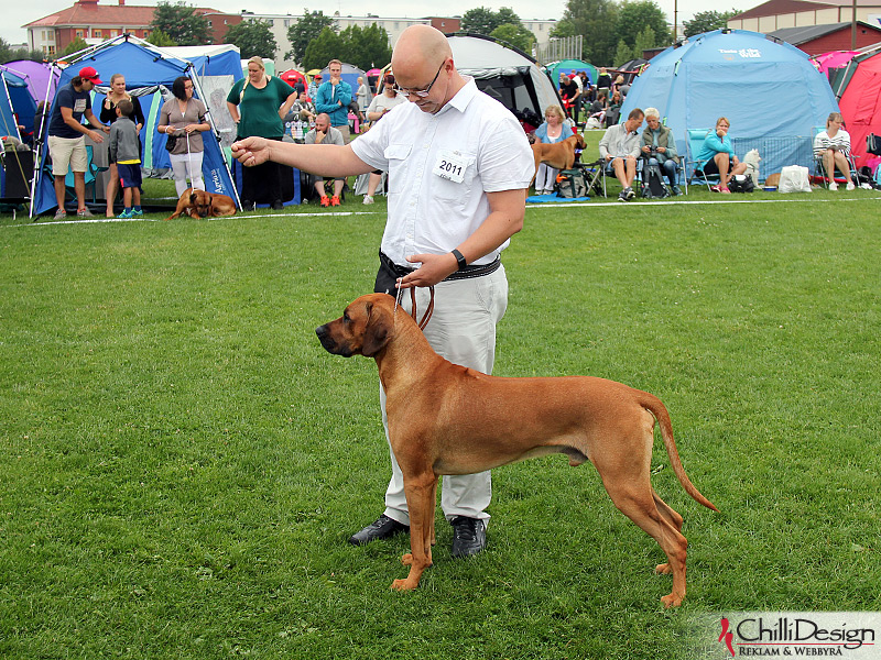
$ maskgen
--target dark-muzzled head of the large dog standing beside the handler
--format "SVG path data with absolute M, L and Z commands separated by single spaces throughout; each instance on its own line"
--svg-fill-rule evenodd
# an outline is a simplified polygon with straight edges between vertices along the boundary
M 361 296 L 341 317 L 316 328 L 315 333 L 328 353 L 373 358 L 394 332 L 393 305 L 394 298 L 388 294 Z

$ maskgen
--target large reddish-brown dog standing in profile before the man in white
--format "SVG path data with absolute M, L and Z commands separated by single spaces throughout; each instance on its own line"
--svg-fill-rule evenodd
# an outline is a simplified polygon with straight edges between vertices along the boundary
M 666 607 L 682 603 L 683 519 L 650 483 L 655 421 L 685 492 L 718 509 L 685 474 L 670 415 L 657 397 L 602 378 L 502 378 L 458 366 L 432 350 L 387 294 L 361 296 L 316 333 L 330 353 L 374 358 L 385 389 L 389 436 L 410 512 L 411 552 L 402 558 L 410 573 L 392 588 L 415 588 L 432 565 L 439 475 L 562 453 L 573 466 L 594 463 L 614 506 L 657 541 L 667 563 L 655 570 L 673 574 L 673 591 L 661 601 Z

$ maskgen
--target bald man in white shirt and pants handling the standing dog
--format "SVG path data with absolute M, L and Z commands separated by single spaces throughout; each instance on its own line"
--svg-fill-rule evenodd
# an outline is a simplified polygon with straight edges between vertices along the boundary
M 490 373 L 496 323 L 508 305 L 499 254 L 520 231 L 535 170 L 532 150 L 513 114 L 456 70 L 444 35 L 428 25 L 399 37 L 392 68 L 411 101 L 346 146 L 296 145 L 248 138 L 232 145 L 243 165 L 271 158 L 325 176 L 389 172 L 389 218 L 376 290 L 435 286 L 425 337 L 442 355 Z M 403 296 L 409 307 L 409 296 Z M 426 309 L 428 290 L 417 305 Z M 380 391 L 383 405 L 384 393 Z M 486 547 L 489 472 L 446 476 L 442 507 L 454 528 L 453 554 Z M 354 544 L 407 529 L 401 471 L 392 455 L 385 513 L 349 539 Z

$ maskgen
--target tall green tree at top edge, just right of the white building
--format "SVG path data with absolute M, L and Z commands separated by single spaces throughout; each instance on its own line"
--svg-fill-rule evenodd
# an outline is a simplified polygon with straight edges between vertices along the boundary
M 584 35 L 581 58 L 596 66 L 613 66 L 618 35 L 614 0 L 567 0 L 563 19 L 551 36 Z

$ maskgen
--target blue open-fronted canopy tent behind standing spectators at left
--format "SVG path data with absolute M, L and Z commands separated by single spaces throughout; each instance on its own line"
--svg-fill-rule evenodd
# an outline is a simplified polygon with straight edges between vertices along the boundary
M 237 62 L 238 65 L 238 62 Z M 133 96 L 141 98 L 144 116 L 149 117 L 148 125 L 141 131 L 141 141 L 144 145 L 144 166 L 149 167 L 150 160 L 164 156 L 165 134 L 155 132 L 154 121 L 159 107 L 162 105 L 162 94 L 167 95 L 175 78 L 186 76 L 193 80 L 195 97 L 206 101 L 207 95 L 202 86 L 202 77 L 197 75 L 193 62 L 172 56 L 163 50 L 156 48 L 146 42 L 131 35 L 121 35 L 96 46 L 77 53 L 72 58 L 69 66 L 61 74 L 58 86 L 65 86 L 77 75 L 84 66 L 91 66 L 104 77 L 105 82 L 113 74 L 126 77 L 126 87 Z M 206 70 L 209 68 L 206 63 Z M 101 88 L 98 88 L 100 90 Z M 105 88 L 106 89 L 106 88 Z M 94 96 L 93 96 L 94 99 Z M 53 108 L 56 101 L 53 102 Z M 207 102 L 207 101 L 206 101 Z M 47 113 L 50 110 L 47 109 Z M 217 134 L 217 127 L 209 113 L 209 122 Z M 236 188 L 220 145 L 217 140 L 211 140 L 205 134 L 203 143 L 205 153 L 203 157 L 203 176 L 205 187 L 209 193 L 219 193 L 237 198 Z M 44 170 L 41 163 L 45 162 L 47 146 L 41 152 L 41 157 L 35 164 L 34 194 L 31 202 L 31 217 L 44 213 L 56 207 L 53 177 Z M 167 162 L 167 161 L 166 161 Z M 155 166 L 155 163 L 152 163 Z

